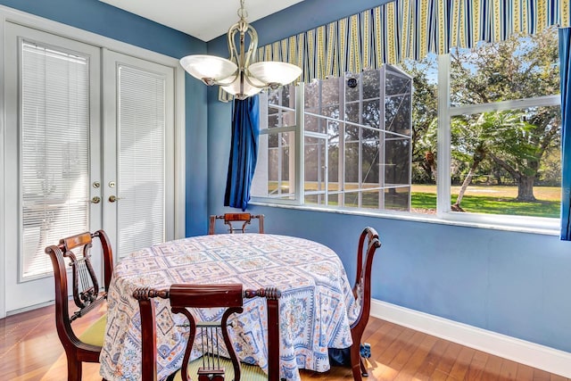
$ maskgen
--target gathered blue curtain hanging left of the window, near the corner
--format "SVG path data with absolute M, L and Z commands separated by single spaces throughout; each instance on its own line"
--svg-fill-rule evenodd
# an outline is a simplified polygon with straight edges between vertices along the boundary
M 250 186 L 258 158 L 260 109 L 258 95 L 234 100 L 232 115 L 232 145 L 228 162 L 228 178 L 224 206 L 246 210 L 250 201 Z

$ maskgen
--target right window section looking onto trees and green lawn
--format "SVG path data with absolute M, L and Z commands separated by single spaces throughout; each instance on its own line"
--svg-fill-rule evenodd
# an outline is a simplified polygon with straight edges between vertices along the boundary
M 556 29 L 472 51 L 455 49 L 445 66 L 451 211 L 559 218 Z

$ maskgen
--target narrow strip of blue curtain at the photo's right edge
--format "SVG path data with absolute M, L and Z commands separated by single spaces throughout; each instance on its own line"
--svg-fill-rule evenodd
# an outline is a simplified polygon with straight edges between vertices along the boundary
M 561 239 L 571 241 L 571 28 L 559 29 L 561 71 Z

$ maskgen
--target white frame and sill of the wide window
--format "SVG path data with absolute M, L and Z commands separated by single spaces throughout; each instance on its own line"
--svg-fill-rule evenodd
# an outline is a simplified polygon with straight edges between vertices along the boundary
M 299 148 L 295 154 L 296 161 L 296 190 L 295 200 L 277 200 L 271 197 L 252 196 L 252 203 L 269 206 L 292 205 L 303 210 L 327 211 L 344 214 L 365 215 L 378 218 L 417 220 L 423 222 L 441 223 L 446 225 L 467 226 L 473 228 L 493 228 L 509 231 L 527 232 L 557 236 L 559 235 L 560 218 L 511 216 L 484 213 L 462 213 L 451 211 L 451 118 L 456 115 L 476 112 L 499 111 L 506 109 L 524 108 L 529 106 L 556 106 L 560 105 L 560 95 L 544 95 L 535 98 L 509 100 L 491 104 L 469 104 L 463 106 L 451 106 L 450 93 L 450 54 L 437 56 L 437 80 L 438 80 L 438 131 L 437 131 L 437 167 L 439 168 L 436 181 L 436 214 L 424 215 L 412 211 L 391 210 L 368 210 L 361 208 L 331 207 L 324 205 L 305 204 L 302 180 L 304 153 L 304 137 L 306 132 L 303 128 L 303 84 L 294 87 L 296 92 L 296 132 L 295 142 Z M 414 90 L 413 90 L 414 92 Z M 263 96 L 263 95 L 262 95 Z M 267 109 L 266 103 L 261 102 L 261 110 Z M 261 113 L 263 116 L 263 113 Z M 277 132 L 276 128 L 269 128 Z M 261 134 L 267 133 L 267 129 L 261 130 Z M 311 136 L 311 135 L 310 135 Z

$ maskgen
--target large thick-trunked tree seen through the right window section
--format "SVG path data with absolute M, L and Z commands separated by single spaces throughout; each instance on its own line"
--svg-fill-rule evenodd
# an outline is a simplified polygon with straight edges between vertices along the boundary
M 457 50 L 451 54 L 451 104 L 488 104 L 557 94 L 557 48 L 557 34 L 546 29 L 472 51 Z M 559 145 L 559 108 L 530 107 L 514 112 L 525 120 L 525 131 L 504 130 L 502 145 L 492 145 L 487 154 L 516 181 L 517 200 L 534 201 L 542 159 Z

